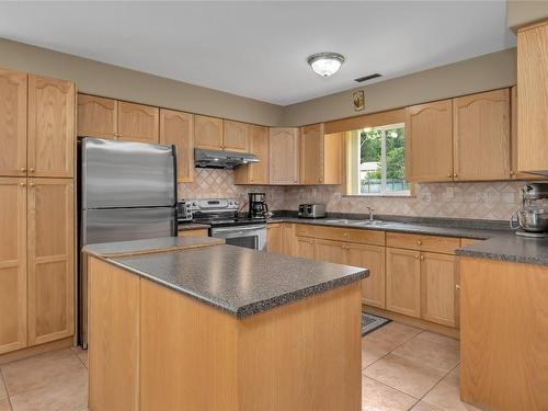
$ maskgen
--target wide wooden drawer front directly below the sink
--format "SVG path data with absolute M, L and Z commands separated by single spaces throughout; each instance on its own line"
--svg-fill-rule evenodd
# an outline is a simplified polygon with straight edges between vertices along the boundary
M 350 241 L 362 244 L 385 246 L 385 231 L 376 230 L 298 225 L 297 236 L 322 238 L 335 241 Z

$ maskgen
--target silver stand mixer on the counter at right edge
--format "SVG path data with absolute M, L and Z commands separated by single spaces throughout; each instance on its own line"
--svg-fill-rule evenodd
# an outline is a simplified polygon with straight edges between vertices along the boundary
M 548 183 L 526 184 L 522 195 L 522 208 L 510 218 L 510 227 L 517 229 L 517 236 L 548 237 Z

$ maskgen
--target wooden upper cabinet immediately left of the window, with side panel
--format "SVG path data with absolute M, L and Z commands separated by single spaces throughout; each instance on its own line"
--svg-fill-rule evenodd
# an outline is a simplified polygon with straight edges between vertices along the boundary
M 343 139 L 324 134 L 323 123 L 300 128 L 300 183 L 341 184 Z

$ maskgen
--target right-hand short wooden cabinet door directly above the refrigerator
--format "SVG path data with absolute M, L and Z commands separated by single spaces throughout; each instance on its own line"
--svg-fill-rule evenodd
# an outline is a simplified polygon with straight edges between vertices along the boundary
M 118 137 L 127 141 L 159 142 L 160 110 L 118 101 Z

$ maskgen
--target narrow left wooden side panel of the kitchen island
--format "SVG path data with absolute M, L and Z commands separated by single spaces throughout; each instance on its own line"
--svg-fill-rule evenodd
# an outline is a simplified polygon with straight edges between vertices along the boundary
M 139 277 L 93 258 L 88 270 L 89 409 L 175 410 L 139 408 Z

